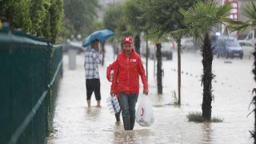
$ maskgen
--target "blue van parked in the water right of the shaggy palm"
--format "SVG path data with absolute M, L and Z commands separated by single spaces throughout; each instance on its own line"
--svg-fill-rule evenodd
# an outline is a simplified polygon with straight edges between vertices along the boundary
M 242 47 L 238 43 L 238 39 L 231 36 L 218 36 L 215 38 L 217 42 L 214 48 L 214 54 L 225 58 L 243 58 Z

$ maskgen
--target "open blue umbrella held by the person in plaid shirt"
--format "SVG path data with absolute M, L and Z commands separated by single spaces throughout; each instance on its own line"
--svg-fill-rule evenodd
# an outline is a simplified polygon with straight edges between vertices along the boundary
M 90 34 L 88 37 L 86 37 L 83 40 L 82 46 L 83 47 L 90 46 L 90 43 L 94 39 L 98 39 L 100 42 L 106 41 L 107 38 L 110 38 L 113 35 L 114 35 L 114 32 L 111 31 L 111 30 L 98 30 L 98 31 L 94 31 L 94 33 Z

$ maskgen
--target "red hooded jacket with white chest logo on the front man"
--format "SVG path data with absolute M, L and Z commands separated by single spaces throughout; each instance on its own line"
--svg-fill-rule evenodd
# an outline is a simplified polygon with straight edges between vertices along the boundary
M 148 90 L 145 69 L 141 57 L 132 50 L 129 57 L 125 51 L 118 54 L 117 66 L 114 69 L 111 90 L 117 87 L 119 92 L 134 94 L 139 92 L 139 75 L 141 76 L 143 89 Z

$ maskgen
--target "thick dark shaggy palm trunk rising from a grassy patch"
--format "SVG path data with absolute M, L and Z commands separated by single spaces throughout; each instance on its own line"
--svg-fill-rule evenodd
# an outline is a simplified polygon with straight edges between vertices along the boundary
M 210 46 L 209 34 L 206 34 L 202 46 L 202 85 L 203 85 L 203 98 L 202 98 L 202 117 L 210 121 L 211 118 L 211 102 L 213 99 L 211 82 L 214 78 L 212 74 L 213 51 Z

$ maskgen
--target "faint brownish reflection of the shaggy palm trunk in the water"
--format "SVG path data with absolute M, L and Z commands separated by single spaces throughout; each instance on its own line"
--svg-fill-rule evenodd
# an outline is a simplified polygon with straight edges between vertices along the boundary
M 204 122 L 202 124 L 202 142 L 210 144 L 212 142 L 211 134 L 212 134 L 211 123 Z

